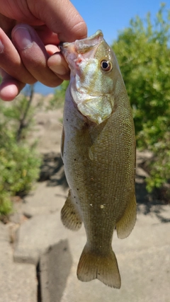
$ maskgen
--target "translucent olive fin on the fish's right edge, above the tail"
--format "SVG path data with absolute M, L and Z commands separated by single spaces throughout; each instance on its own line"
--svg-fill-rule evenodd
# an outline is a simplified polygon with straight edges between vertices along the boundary
M 136 222 L 136 198 L 135 194 L 128 207 L 125 210 L 123 217 L 116 223 L 116 231 L 118 238 L 123 239 L 130 235 Z

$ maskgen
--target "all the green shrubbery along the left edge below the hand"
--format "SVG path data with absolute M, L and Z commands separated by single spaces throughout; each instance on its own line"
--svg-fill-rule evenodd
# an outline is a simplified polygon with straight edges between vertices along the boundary
M 12 211 L 11 197 L 28 193 L 38 178 L 40 155 L 28 143 L 33 129 L 33 86 L 29 97 L 0 102 L 0 216 Z

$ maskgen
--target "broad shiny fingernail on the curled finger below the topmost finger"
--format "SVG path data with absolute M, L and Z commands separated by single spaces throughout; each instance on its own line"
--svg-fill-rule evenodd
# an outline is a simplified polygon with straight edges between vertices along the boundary
M 33 42 L 29 30 L 21 27 L 13 30 L 13 39 L 21 50 L 26 50 L 26 48 L 30 47 Z

